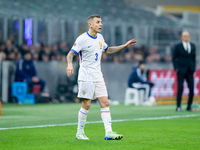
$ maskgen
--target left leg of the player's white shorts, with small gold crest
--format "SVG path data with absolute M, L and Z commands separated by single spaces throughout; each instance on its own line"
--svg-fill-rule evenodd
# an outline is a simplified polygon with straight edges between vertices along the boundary
M 93 99 L 95 91 L 94 82 L 78 82 L 78 97 L 81 99 Z

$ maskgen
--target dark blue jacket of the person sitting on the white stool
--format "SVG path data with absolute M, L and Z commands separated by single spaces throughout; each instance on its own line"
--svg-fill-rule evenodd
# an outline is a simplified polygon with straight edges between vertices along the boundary
M 139 67 L 133 68 L 133 72 L 128 80 L 128 87 L 133 87 L 133 83 L 149 84 L 146 78 L 146 73 L 143 73 L 143 78 L 141 75 L 142 73 Z

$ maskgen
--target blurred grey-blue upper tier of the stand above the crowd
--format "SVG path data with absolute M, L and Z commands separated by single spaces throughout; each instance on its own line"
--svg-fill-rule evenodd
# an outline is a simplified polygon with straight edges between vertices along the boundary
M 141 6 L 128 5 L 121 0 L 54 0 L 54 1 L 6 1 L 2 0 L 0 15 L 23 18 L 78 19 L 84 21 L 89 15 L 101 14 L 106 20 L 150 23 L 156 26 L 177 26 L 177 21 L 167 16 L 157 17 L 153 11 Z

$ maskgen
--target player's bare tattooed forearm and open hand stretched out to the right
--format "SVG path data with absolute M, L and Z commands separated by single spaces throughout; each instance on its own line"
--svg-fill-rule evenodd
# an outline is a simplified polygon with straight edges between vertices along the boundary
M 135 39 L 132 39 L 130 41 L 128 41 L 126 44 L 124 45 L 120 45 L 120 46 L 113 46 L 113 47 L 109 47 L 106 51 L 106 54 L 114 54 L 114 53 L 117 53 L 125 48 L 128 48 L 132 45 L 135 45 L 137 42 L 137 40 Z

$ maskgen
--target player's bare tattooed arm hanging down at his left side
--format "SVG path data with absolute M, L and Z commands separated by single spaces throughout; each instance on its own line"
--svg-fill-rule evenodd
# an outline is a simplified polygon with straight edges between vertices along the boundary
M 76 54 L 73 52 L 73 51 L 69 51 L 69 53 L 67 54 L 67 76 L 70 77 L 73 73 L 74 73 L 74 69 L 73 69 L 73 64 L 72 64 L 72 60 L 73 60 L 73 57 L 75 56 Z

